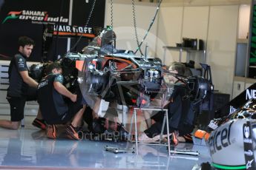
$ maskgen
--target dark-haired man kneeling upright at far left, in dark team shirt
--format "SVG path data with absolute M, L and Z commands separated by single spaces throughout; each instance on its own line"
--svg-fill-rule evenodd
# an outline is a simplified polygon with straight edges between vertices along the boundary
M 21 120 L 24 118 L 26 101 L 36 101 L 37 97 L 36 87 L 38 83 L 28 75 L 26 61 L 33 50 L 34 41 L 31 38 L 22 36 L 19 38 L 18 45 L 19 53 L 10 61 L 8 70 L 7 101 L 10 103 L 10 120 L 0 120 L 0 127 L 7 129 L 19 129 Z M 40 110 L 36 119 L 42 120 Z

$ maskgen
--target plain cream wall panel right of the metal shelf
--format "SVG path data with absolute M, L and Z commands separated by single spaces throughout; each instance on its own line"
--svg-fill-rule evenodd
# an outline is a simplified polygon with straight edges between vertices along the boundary
M 237 38 L 237 5 L 210 7 L 207 63 L 214 88 L 232 94 Z

